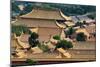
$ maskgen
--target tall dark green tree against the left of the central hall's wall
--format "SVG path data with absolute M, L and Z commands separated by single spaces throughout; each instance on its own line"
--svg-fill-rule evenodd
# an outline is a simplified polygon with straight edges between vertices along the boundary
M 29 44 L 31 45 L 31 47 L 35 47 L 39 44 L 39 41 L 38 41 L 38 34 L 33 32 L 31 34 L 31 36 L 29 37 Z

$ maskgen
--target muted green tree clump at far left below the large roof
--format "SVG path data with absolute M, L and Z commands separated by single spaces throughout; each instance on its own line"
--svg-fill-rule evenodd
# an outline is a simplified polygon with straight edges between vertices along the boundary
M 12 29 L 11 32 L 15 33 L 17 36 L 20 36 L 22 32 L 31 34 L 31 31 L 28 29 L 28 27 L 24 25 L 12 25 L 11 29 Z

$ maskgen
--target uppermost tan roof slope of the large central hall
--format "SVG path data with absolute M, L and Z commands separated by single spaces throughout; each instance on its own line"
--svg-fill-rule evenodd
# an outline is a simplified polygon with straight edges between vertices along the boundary
M 20 16 L 21 18 L 65 20 L 59 10 L 33 9 L 31 12 Z

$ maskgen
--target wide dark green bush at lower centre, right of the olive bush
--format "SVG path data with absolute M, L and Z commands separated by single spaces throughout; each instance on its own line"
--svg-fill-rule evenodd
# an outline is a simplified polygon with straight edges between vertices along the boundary
M 72 42 L 70 41 L 61 40 L 56 44 L 56 49 L 57 48 L 69 49 L 69 48 L 73 48 L 73 45 Z

